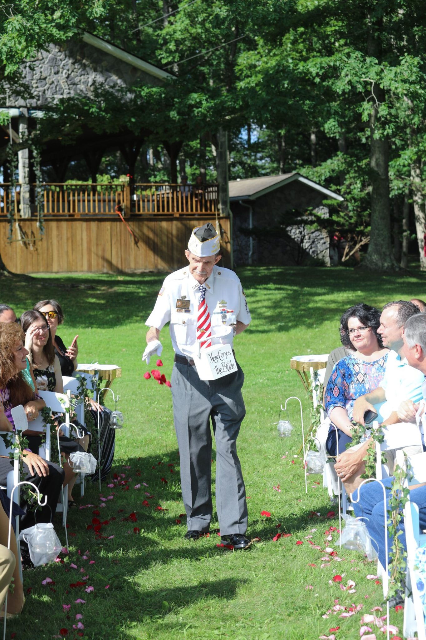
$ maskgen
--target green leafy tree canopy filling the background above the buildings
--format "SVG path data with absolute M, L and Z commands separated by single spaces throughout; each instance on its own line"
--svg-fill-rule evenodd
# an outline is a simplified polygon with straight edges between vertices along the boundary
M 136 84 L 124 110 L 123 96 L 107 90 L 91 100 L 59 100 L 53 120 L 40 127 L 42 138 L 57 135 L 65 121 L 62 133 L 71 138 L 79 123 L 135 134 L 144 127 L 151 134 L 141 171 L 153 148 L 150 170 L 158 177 L 164 148 L 175 144 L 181 168 L 213 177 L 222 128 L 232 179 L 300 171 L 340 189 L 345 202 L 333 209 L 333 225 L 370 237 L 365 264 L 374 268 L 404 264 L 411 207 L 422 256 L 420 0 L 26 0 L 2 12 L 1 80 L 19 81 L 22 60 L 84 30 L 173 76 L 162 86 Z M 114 159 L 109 163 L 104 171 L 114 170 Z

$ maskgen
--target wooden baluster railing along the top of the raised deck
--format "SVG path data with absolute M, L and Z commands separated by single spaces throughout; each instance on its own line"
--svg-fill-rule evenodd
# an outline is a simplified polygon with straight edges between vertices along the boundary
M 130 186 L 122 183 L 63 184 L 45 182 L 36 193 L 30 186 L 31 214 L 80 218 L 81 216 L 188 216 L 211 215 L 218 212 L 217 184 L 196 188 L 171 183 L 144 183 Z M 20 185 L 0 184 L 0 218 L 8 212 L 20 214 Z

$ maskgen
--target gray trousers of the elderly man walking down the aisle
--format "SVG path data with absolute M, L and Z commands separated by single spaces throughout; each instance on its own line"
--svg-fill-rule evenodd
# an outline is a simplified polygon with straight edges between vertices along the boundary
M 189 364 L 174 363 L 172 397 L 174 428 L 178 436 L 183 504 L 188 530 L 209 530 L 211 500 L 211 430 L 216 441 L 216 508 L 220 533 L 247 530 L 245 486 L 236 439 L 245 416 L 238 371 L 219 380 L 200 380 Z

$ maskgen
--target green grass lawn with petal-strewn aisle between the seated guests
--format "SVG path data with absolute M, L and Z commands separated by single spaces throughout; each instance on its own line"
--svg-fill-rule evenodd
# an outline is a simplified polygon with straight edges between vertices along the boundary
M 13 633 L 16 640 L 62 637 L 61 629 L 68 630 L 68 638 L 93 640 L 360 637 L 361 616 L 383 600 L 381 585 L 367 580 L 376 567 L 360 554 L 340 552 L 335 532 L 331 541 L 326 540 L 328 527 L 338 527 L 339 522 L 326 518 L 331 506 L 321 476 L 309 477 L 305 494 L 302 459 L 294 457 L 301 445 L 297 404 L 290 410 L 296 427 L 291 438 L 279 438 L 273 423 L 280 403 L 293 395 L 301 396 L 309 423 L 309 404 L 290 369 L 291 356 L 328 353 L 338 346 L 340 314 L 356 302 L 380 306 L 400 298 L 425 298 L 426 276 L 275 267 L 240 269 L 238 275 L 253 318 L 234 342 L 245 371 L 247 408 L 238 452 L 248 496 L 248 534 L 261 538 L 248 552 L 218 548 L 215 520 L 209 538 L 195 543 L 183 540 L 186 527 L 171 392 L 153 379 L 144 380 L 152 363 L 146 367 L 141 360 L 144 321 L 163 276 L 40 275 L 0 280 L 0 301 L 12 305 L 17 314 L 43 298 L 60 301 L 66 319 L 59 335 L 69 344 L 79 333 L 80 362 L 121 365 L 123 376 L 112 388 L 119 393 L 119 408 L 125 414 L 125 428 L 116 434 L 112 472 L 126 484 L 109 488 L 112 481 L 103 483 L 102 497 L 112 496 L 105 502 L 96 484 L 87 486 L 80 504 L 92 506 L 72 509 L 68 516 L 69 556 L 63 564 L 24 572 L 26 606 L 19 618 L 8 623 L 6 637 Z M 166 328 L 161 337 L 162 371 L 169 379 L 172 348 Z M 109 394 L 109 406 L 111 400 Z M 213 476 L 214 472 L 213 460 Z M 274 489 L 278 483 L 280 492 Z M 134 488 L 138 484 L 140 488 Z M 261 516 L 262 510 L 271 516 Z M 133 519 L 128 518 L 131 513 Z M 95 517 L 107 523 L 102 540 L 86 528 Z M 65 544 L 59 516 L 55 528 Z M 277 532 L 291 535 L 273 541 Z M 327 546 L 339 552 L 340 561 L 321 559 L 328 557 Z M 88 559 L 83 559 L 86 551 Z M 95 563 L 89 564 L 91 560 Z M 72 563 L 77 569 L 71 568 Z M 86 586 L 70 586 L 87 575 Z M 356 592 L 342 590 L 332 581 L 335 575 L 342 576 L 343 585 L 354 580 Z M 43 585 L 46 577 L 54 584 Z M 94 590 L 86 593 L 88 586 Z M 75 604 L 79 598 L 85 604 Z M 324 619 L 337 600 L 347 611 L 357 605 L 362 609 L 347 618 L 337 612 Z M 72 605 L 68 612 L 64 604 Z M 73 629 L 76 614 L 82 614 L 84 629 Z M 402 618 L 402 611 L 392 611 L 391 623 L 399 627 L 400 636 Z M 339 630 L 329 631 L 336 627 Z

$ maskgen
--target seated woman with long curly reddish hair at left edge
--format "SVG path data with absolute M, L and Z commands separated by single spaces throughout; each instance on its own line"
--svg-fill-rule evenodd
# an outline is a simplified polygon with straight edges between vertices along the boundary
M 0 431 L 12 431 L 14 428 L 11 409 L 19 404 L 24 406 L 27 420 L 36 419 L 44 401 L 34 393 L 22 371 L 26 369 L 28 352 L 24 347 L 24 332 L 19 324 L 0 323 Z M 4 408 L 4 411 L 3 411 Z M 57 500 L 61 492 L 64 472 L 58 465 L 40 458 L 30 449 L 22 453 L 24 477 L 38 486 L 40 493 L 47 496 L 47 504 L 37 510 L 37 522 L 50 522 L 56 511 Z M 0 484 L 6 486 L 11 461 L 0 458 Z M 20 528 L 27 529 L 35 524 L 34 511 L 23 506 L 24 515 L 20 516 Z M 25 546 L 25 545 L 24 545 Z

